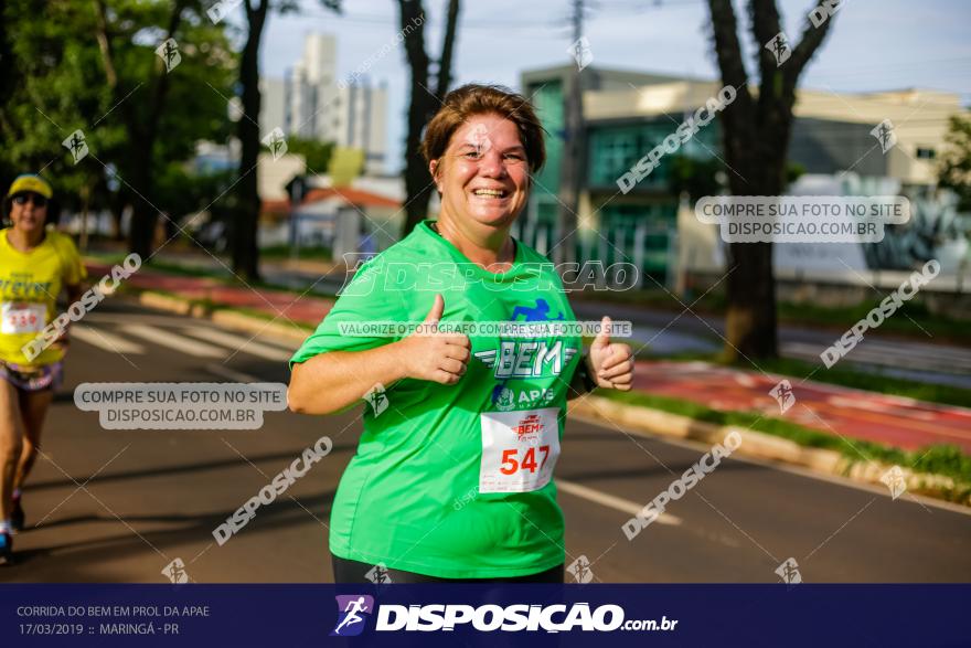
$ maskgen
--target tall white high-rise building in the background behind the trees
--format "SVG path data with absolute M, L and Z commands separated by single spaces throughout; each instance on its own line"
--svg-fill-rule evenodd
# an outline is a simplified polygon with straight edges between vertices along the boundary
M 262 132 L 280 127 L 287 136 L 359 148 L 365 153 L 366 171 L 384 170 L 387 88 L 371 86 L 366 77 L 340 83 L 335 36 L 308 34 L 303 55 L 285 78 L 265 78 L 260 85 Z

